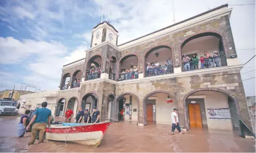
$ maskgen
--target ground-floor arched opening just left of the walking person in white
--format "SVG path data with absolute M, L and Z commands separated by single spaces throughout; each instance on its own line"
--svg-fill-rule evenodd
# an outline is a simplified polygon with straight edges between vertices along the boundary
M 168 91 L 153 91 L 143 99 L 144 124 L 172 124 L 173 109 L 178 109 L 178 102 Z

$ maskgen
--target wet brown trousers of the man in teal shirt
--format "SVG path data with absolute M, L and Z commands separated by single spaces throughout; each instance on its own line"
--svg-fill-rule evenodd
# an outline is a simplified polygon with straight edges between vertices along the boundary
M 35 123 L 32 126 L 29 145 L 35 143 L 35 139 L 36 139 L 36 135 L 37 135 L 37 130 L 39 131 L 39 142 L 38 143 L 43 143 L 44 132 L 45 132 L 45 128 L 46 127 L 47 127 L 47 123 Z

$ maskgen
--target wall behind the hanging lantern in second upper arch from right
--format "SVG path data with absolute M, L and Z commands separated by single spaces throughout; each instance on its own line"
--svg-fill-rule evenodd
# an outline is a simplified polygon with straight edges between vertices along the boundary
M 156 52 L 159 53 L 158 57 L 155 56 Z M 172 58 L 172 50 L 170 50 L 168 48 L 160 48 L 160 49 L 152 51 L 148 55 L 148 57 L 146 59 L 146 62 L 147 63 L 152 63 L 152 62 L 156 62 L 157 61 L 160 65 L 165 65 L 166 64 L 166 60 L 169 57 L 173 60 L 173 58 Z

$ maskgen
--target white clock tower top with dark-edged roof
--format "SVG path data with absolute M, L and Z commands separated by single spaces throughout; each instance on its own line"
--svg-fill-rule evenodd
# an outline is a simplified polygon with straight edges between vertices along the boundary
M 105 41 L 117 45 L 118 31 L 109 22 L 102 22 L 96 25 L 91 31 L 91 47 L 99 45 Z

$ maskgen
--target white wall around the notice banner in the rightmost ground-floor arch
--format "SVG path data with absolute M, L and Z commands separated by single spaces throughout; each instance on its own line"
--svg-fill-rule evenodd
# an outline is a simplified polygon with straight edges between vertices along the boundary
M 213 108 L 229 108 L 227 95 L 222 94 L 221 92 L 216 91 L 199 91 L 194 95 L 206 95 L 205 97 L 205 110 L 206 110 L 206 118 L 207 125 L 209 129 L 225 129 L 225 130 L 233 130 L 232 120 L 231 119 L 211 119 L 209 118 L 209 114 L 207 113 L 207 109 Z

